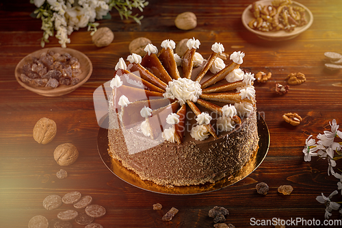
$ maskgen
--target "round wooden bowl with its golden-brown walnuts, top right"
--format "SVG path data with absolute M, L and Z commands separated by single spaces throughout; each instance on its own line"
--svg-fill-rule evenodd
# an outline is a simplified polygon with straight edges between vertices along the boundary
M 290 40 L 313 23 L 306 6 L 291 0 L 261 0 L 242 13 L 244 27 L 264 40 Z

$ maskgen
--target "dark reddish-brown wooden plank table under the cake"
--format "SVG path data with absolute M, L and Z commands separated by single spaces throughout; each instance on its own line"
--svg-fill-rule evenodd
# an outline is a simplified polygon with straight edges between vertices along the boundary
M 86 29 L 70 36 L 68 47 L 88 55 L 94 71 L 86 84 L 62 97 L 42 97 L 16 82 L 16 64 L 41 48 L 41 21 L 29 16 L 35 7 L 28 1 L 0 3 L 0 227 L 27 227 L 36 215 L 55 218 L 57 212 L 70 207 L 48 211 L 42 207 L 43 199 L 70 191 L 89 194 L 94 203 L 106 208 L 107 214 L 96 218 L 103 227 L 213 227 L 208 212 L 216 205 L 229 210 L 226 223 L 236 227 L 252 227 L 252 218 L 303 218 L 323 223 L 325 206 L 315 198 L 321 192 L 328 196 L 337 190 L 338 179 L 327 175 L 326 161 L 313 157 L 312 162 L 304 162 L 302 149 L 310 134 L 315 137 L 330 130 L 332 119 L 342 125 L 341 71 L 332 73 L 324 68 L 325 51 L 342 53 L 342 3 L 300 1 L 315 17 L 310 29 L 293 40 L 269 42 L 251 34 L 241 23 L 241 13 L 252 2 L 152 0 L 143 12 L 141 26 L 120 21 L 113 10 L 111 20 L 99 21 L 100 27 L 114 31 L 115 39 L 109 47 L 96 48 Z M 196 14 L 196 29 L 181 31 L 174 26 L 176 15 L 185 11 Z M 241 66 L 244 69 L 272 72 L 266 83 L 255 83 L 257 107 L 265 113 L 271 136 L 267 157 L 257 170 L 222 190 L 174 196 L 135 188 L 107 169 L 96 147 L 99 127 L 92 94 L 113 77 L 118 58 L 129 55 L 129 42 L 140 36 L 150 38 L 156 46 L 164 39 L 178 42 L 198 38 L 205 58 L 213 42 L 222 42 L 226 53 L 246 53 Z M 47 47 L 59 47 L 57 39 L 50 38 Z M 276 95 L 275 84 L 286 84 L 287 75 L 296 72 L 304 73 L 306 82 L 291 86 L 285 96 Z M 287 112 L 300 114 L 302 123 L 297 127 L 285 123 L 282 114 Z M 32 129 L 42 117 L 53 119 L 58 129 L 55 139 L 45 145 L 32 138 Z M 80 154 L 75 164 L 64 167 L 68 177 L 57 179 L 55 173 L 62 167 L 53 160 L 53 151 L 64 142 L 75 144 Z M 261 181 L 269 185 L 266 196 L 255 190 Z M 278 186 L 284 184 L 293 186 L 291 195 L 277 192 Z M 341 198 L 339 194 L 332 201 Z M 161 203 L 163 209 L 153 210 L 154 203 Z M 161 221 L 171 207 L 179 209 L 179 213 L 171 222 Z M 341 217 L 339 212 L 333 212 L 331 218 Z

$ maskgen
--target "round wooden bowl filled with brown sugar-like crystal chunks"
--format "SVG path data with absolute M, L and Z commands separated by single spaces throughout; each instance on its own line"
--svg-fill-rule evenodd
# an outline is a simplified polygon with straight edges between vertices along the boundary
M 18 84 L 46 97 L 73 92 L 92 75 L 92 62 L 75 49 L 51 47 L 26 55 L 15 69 Z

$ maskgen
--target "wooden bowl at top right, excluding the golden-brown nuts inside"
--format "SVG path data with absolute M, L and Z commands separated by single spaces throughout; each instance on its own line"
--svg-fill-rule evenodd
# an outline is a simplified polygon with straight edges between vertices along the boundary
M 272 0 L 261 0 L 261 1 L 257 1 L 257 2 L 262 6 L 263 5 L 272 5 Z M 308 29 L 313 24 L 313 14 L 311 13 L 310 10 L 308 10 L 308 8 L 306 8 L 304 5 L 302 5 L 296 1 L 292 1 L 292 5 L 293 6 L 300 6 L 300 7 L 304 8 L 306 11 L 306 20 L 308 21 L 308 23 L 306 25 L 304 25 L 302 27 L 295 27 L 295 29 L 293 31 L 289 31 L 289 32 L 284 31 L 284 30 L 280 30 L 280 31 L 259 31 L 259 30 L 251 29 L 248 26 L 248 23 L 250 21 L 252 21 L 252 19 L 254 18 L 252 12 L 250 12 L 252 5 L 248 5 L 248 7 L 242 13 L 242 23 L 244 24 L 244 27 L 246 27 L 246 29 L 248 29 L 248 31 L 251 31 L 254 34 L 257 34 L 257 36 L 259 38 L 262 38 L 264 40 L 274 40 L 274 41 L 290 40 L 292 38 L 295 38 L 299 34 L 301 34 L 303 31 Z

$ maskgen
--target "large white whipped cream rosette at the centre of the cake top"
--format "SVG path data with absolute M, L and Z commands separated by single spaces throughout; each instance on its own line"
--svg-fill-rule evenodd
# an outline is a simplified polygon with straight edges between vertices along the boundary
M 202 94 L 202 89 L 198 81 L 179 78 L 169 81 L 163 96 L 168 99 L 177 99 L 180 105 L 184 105 L 187 101 L 196 102 L 200 94 Z

